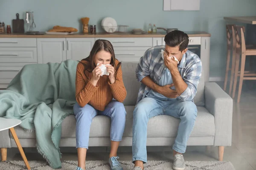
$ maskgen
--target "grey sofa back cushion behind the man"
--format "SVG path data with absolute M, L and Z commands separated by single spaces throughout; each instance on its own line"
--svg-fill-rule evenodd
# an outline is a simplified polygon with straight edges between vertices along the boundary
M 122 63 L 123 82 L 127 91 L 124 105 L 136 105 L 140 82 L 137 81 L 135 71 L 137 62 Z M 198 84 L 197 94 L 194 97 L 195 105 L 204 106 L 204 71 Z

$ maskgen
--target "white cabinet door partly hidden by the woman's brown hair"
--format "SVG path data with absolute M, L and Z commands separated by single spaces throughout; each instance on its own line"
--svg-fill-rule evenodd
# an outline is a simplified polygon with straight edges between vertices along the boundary
M 95 38 L 67 38 L 67 59 L 81 60 L 89 56 Z

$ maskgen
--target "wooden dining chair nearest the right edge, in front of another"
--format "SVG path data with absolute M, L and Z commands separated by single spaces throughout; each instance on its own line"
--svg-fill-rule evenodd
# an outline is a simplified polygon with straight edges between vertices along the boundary
M 247 56 L 256 55 L 256 46 L 253 45 L 245 45 L 245 38 L 244 38 L 244 26 L 236 26 L 235 30 L 236 34 L 236 66 L 235 66 L 235 76 L 234 76 L 234 85 L 233 85 L 233 95 L 235 97 L 236 94 L 236 84 L 237 84 L 237 77 L 239 78 L 239 90 L 237 96 L 237 102 L 240 102 L 241 98 L 241 91 L 243 80 L 256 80 L 256 74 L 244 71 L 245 68 L 245 59 Z M 241 55 L 241 66 L 240 66 L 240 74 L 239 74 L 239 62 L 240 62 L 240 55 Z M 250 58 L 250 62 L 253 61 Z M 250 64 L 251 65 L 251 64 Z

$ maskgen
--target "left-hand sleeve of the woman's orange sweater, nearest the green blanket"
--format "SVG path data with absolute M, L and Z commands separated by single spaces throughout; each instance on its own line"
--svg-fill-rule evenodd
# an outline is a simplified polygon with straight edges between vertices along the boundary
M 81 107 L 87 105 L 93 94 L 98 90 L 98 86 L 94 86 L 89 80 L 86 82 L 83 79 L 83 74 L 83 66 L 79 63 L 76 68 L 76 102 Z

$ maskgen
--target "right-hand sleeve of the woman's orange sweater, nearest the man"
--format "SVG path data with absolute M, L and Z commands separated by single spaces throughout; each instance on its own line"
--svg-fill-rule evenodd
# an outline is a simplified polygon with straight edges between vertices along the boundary
M 122 80 L 121 66 L 118 68 L 116 73 L 116 82 L 114 82 L 113 84 L 110 84 L 110 82 L 108 82 L 108 84 L 111 88 L 113 98 L 116 99 L 118 102 L 123 102 L 126 97 L 126 89 Z

